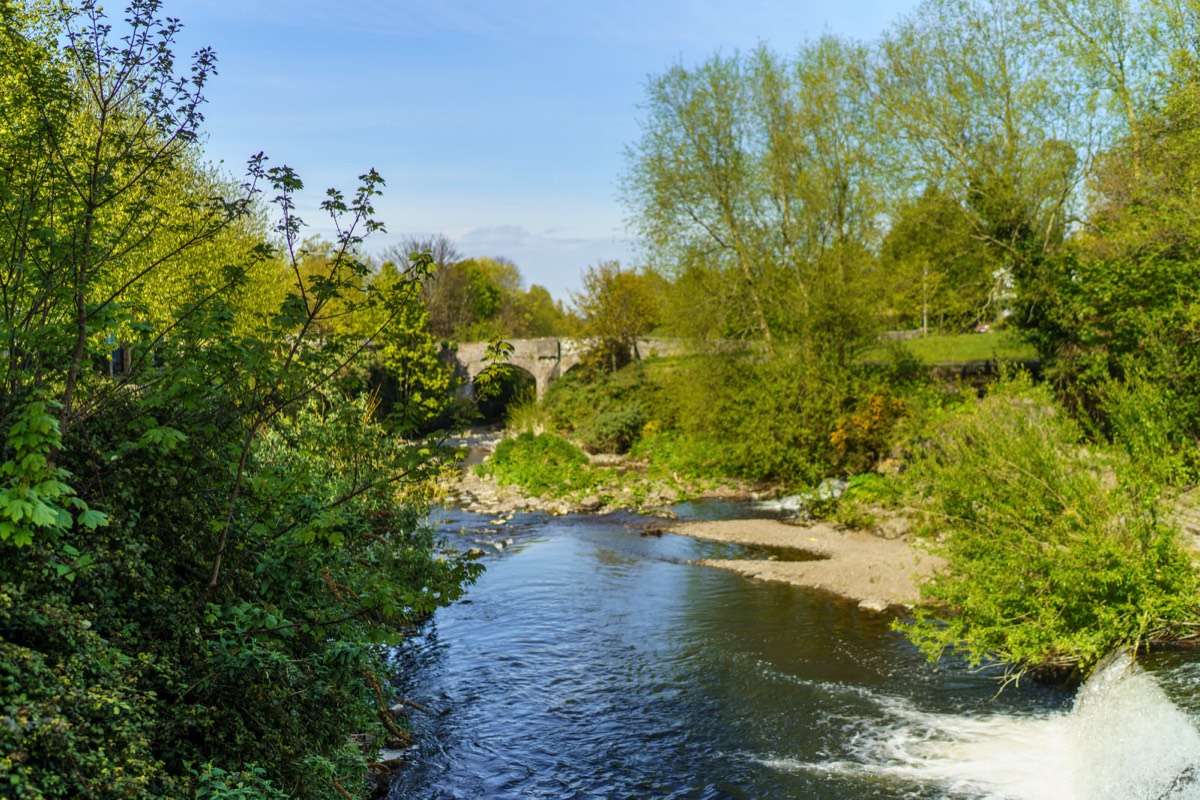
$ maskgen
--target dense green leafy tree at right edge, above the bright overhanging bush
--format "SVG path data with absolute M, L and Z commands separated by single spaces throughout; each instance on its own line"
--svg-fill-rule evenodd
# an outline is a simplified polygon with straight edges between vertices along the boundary
M 1087 224 L 1050 264 L 1034 341 L 1064 395 L 1105 429 L 1099 389 L 1135 371 L 1171 391 L 1182 429 L 1200 433 L 1198 74 L 1181 55 L 1159 108 L 1138 119 L 1140 133 L 1099 160 Z

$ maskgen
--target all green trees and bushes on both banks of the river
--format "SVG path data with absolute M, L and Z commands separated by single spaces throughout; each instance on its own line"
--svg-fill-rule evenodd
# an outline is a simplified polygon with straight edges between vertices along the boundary
M 670 68 L 623 180 L 647 263 L 589 269 L 575 314 L 444 239 L 368 258 L 373 172 L 306 240 L 293 170 L 204 164 L 214 55 L 176 71 L 158 12 L 0 0 L 6 796 L 366 792 L 350 735 L 403 734 L 388 645 L 479 571 L 422 522 L 469 411 L 455 337 L 595 344 L 509 403 L 500 481 L 640 506 L 846 476 L 815 513 L 918 519 L 947 567 L 900 626 L 931 657 L 1082 676 L 1193 637 L 1193 5 L 926 0 L 872 46 Z M 980 324 L 1040 383 L 872 350 Z M 638 360 L 652 331 L 695 354 Z

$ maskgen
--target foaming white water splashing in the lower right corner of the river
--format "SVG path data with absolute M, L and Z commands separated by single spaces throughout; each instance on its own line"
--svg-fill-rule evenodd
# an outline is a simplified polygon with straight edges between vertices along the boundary
M 967 717 L 881 699 L 889 722 L 856 738 L 871 772 L 948 798 L 1200 799 L 1200 733 L 1128 652 L 1110 656 L 1069 711 Z

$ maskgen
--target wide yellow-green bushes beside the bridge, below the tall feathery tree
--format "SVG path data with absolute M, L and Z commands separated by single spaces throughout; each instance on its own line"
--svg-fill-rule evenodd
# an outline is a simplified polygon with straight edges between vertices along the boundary
M 833 470 L 829 437 L 857 385 L 803 353 L 746 353 L 572 371 L 545 403 L 554 429 L 648 459 L 652 474 L 815 483 Z

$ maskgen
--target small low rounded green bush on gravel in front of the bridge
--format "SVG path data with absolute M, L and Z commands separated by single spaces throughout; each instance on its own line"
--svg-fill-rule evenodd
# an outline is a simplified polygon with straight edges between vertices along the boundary
M 578 447 L 552 433 L 505 439 L 484 464 L 500 486 L 516 485 L 536 497 L 563 497 L 590 489 L 598 475 Z

